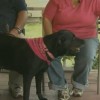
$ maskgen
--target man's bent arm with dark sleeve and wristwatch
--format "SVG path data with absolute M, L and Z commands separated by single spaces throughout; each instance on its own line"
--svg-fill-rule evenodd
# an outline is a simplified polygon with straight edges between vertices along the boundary
M 10 34 L 20 37 L 19 33 L 24 28 L 24 25 L 28 18 L 27 5 L 25 0 L 15 0 L 13 6 L 17 15 L 15 25 L 13 26 L 13 29 L 10 31 Z

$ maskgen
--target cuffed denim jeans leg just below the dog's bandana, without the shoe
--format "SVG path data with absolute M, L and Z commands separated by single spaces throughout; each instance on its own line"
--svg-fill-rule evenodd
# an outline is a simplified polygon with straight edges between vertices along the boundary
M 68 87 L 62 68 L 61 57 L 55 58 L 55 60 L 51 62 L 47 72 L 50 79 L 50 89 L 63 90 Z

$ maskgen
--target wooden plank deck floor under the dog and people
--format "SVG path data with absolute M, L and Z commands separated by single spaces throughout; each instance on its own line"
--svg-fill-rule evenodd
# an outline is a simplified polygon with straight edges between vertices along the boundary
M 70 84 L 70 77 L 72 71 L 66 72 L 66 78 Z M 89 76 L 90 85 L 84 92 L 82 97 L 72 97 L 71 100 L 100 100 L 100 94 L 97 95 L 97 71 L 92 71 Z M 57 92 L 53 90 L 49 90 L 48 88 L 48 77 L 45 73 L 45 97 L 48 100 L 57 100 Z M 8 91 L 8 74 L 7 73 L 0 73 L 0 100 L 23 100 L 21 99 L 14 99 L 10 96 Z M 31 93 L 30 93 L 30 100 L 38 100 L 37 95 L 35 94 L 35 83 L 34 79 L 31 85 Z

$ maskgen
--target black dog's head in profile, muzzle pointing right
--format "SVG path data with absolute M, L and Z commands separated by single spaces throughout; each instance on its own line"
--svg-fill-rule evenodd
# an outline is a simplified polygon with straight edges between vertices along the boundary
M 55 57 L 62 55 L 74 56 L 79 52 L 84 45 L 84 40 L 75 37 L 75 35 L 68 30 L 61 30 L 54 33 L 55 38 Z

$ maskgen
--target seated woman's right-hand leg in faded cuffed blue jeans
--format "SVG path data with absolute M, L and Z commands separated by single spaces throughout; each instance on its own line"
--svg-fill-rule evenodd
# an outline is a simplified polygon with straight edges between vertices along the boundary
M 92 69 L 93 61 L 98 47 L 98 39 L 85 39 L 85 45 L 75 57 L 74 72 L 72 75 L 73 91 L 83 90 L 88 85 L 88 75 Z M 76 90 L 74 94 L 77 93 Z M 73 93 L 72 93 L 73 94 Z M 76 94 L 77 95 L 77 94 Z

